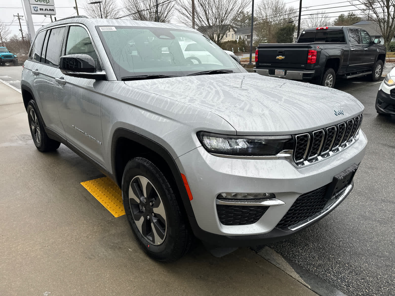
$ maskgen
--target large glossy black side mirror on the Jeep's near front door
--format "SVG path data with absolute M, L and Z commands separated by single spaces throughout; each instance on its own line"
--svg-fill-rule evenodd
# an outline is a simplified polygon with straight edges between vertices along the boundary
M 61 56 L 59 60 L 60 71 L 64 75 L 105 80 L 105 71 L 96 71 L 95 61 L 88 54 L 69 54 Z

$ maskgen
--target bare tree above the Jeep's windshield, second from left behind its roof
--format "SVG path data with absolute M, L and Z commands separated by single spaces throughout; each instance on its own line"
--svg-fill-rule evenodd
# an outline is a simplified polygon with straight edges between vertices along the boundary
M 175 0 L 124 0 L 128 17 L 139 21 L 169 22 Z

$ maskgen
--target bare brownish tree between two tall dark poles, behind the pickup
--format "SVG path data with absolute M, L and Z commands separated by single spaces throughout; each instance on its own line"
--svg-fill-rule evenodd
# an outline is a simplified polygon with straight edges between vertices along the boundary
M 295 23 L 298 9 L 288 7 L 284 0 L 268 0 L 260 2 L 254 17 L 255 43 L 275 43 L 280 28 Z

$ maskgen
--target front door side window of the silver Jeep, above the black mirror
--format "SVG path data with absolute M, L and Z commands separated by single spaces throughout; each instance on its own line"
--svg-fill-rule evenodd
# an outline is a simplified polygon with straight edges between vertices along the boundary
M 98 55 L 93 47 L 88 32 L 80 26 L 70 26 L 69 35 L 67 37 L 66 55 L 67 54 L 88 54 L 98 66 Z

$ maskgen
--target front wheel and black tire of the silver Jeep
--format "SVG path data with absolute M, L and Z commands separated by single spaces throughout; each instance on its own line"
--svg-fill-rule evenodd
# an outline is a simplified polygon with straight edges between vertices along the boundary
M 145 185 L 147 197 L 144 197 L 141 180 L 147 182 L 146 179 L 149 183 Z M 170 183 L 156 165 L 143 157 L 130 160 L 122 176 L 122 197 L 130 227 L 147 255 L 158 261 L 172 262 L 188 252 L 192 245 L 192 232 L 184 220 L 181 205 Z M 156 214 L 161 212 L 161 206 L 165 217 Z M 136 220 L 140 222 L 139 226 Z M 156 225 L 159 225 L 157 227 L 160 230 L 154 227 Z

